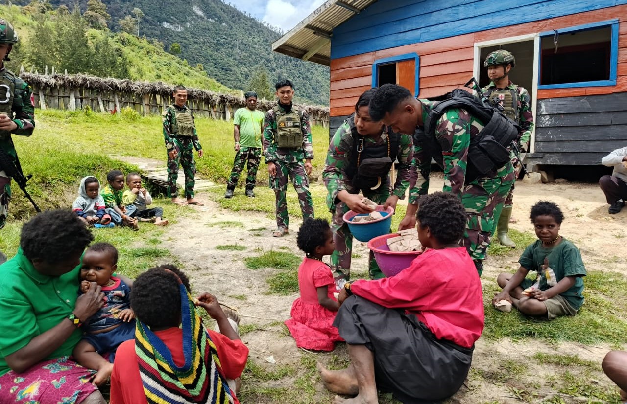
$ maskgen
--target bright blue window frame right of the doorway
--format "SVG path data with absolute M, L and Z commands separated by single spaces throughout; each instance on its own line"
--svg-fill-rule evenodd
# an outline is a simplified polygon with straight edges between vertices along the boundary
M 616 76 L 618 70 L 618 31 L 619 21 L 618 18 L 608 19 L 606 21 L 599 21 L 597 23 L 582 24 L 572 26 L 569 28 L 557 29 L 558 34 L 566 34 L 578 31 L 589 31 L 590 29 L 598 29 L 603 27 L 611 27 L 611 39 L 609 44 L 609 80 L 595 80 L 595 81 L 579 81 L 576 83 L 559 83 L 559 84 L 541 84 L 542 75 L 538 75 L 538 90 L 550 89 L 550 88 L 577 88 L 577 87 L 596 87 L 596 86 L 615 86 Z M 540 49 L 538 54 L 538 72 L 542 71 L 542 38 L 547 36 L 553 36 L 554 31 L 544 31 L 539 34 L 540 37 Z

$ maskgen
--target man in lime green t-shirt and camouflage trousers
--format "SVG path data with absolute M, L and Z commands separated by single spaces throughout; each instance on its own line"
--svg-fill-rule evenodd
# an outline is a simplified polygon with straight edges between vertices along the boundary
M 231 177 L 226 183 L 225 198 L 233 197 L 240 174 L 248 162 L 246 176 L 246 196 L 255 197 L 257 169 L 261 162 L 261 135 L 263 134 L 263 112 L 257 110 L 257 93 L 248 91 L 244 95 L 246 108 L 235 111 L 233 118 L 233 138 L 235 140 L 235 160 Z

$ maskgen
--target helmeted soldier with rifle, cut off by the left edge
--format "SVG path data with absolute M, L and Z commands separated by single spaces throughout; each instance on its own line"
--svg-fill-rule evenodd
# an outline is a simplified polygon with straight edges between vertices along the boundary
M 19 165 L 11 135 L 30 136 L 35 127 L 33 92 L 21 78 L 6 69 L 18 34 L 4 18 L 0 18 L 0 148 L 9 155 L 13 165 Z M 0 167 L 0 229 L 6 224 L 11 199 L 11 178 Z

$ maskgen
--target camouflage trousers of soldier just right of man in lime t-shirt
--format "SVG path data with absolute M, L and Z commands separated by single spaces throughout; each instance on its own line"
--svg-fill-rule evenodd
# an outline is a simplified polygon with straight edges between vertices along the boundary
M 309 177 L 305 173 L 305 164 L 274 162 L 277 167 L 277 175 L 270 176 L 270 188 L 274 190 L 277 198 L 277 227 L 288 228 L 290 218 L 287 213 L 287 180 L 292 180 L 292 185 L 298 194 L 298 204 L 303 214 L 303 220 L 314 218 L 314 201 L 309 192 Z

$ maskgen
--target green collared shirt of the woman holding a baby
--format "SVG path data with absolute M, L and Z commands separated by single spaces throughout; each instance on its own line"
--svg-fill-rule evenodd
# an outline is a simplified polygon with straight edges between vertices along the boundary
M 80 267 L 61 276 L 43 275 L 34 269 L 22 249 L 0 266 L 0 376 L 11 370 L 4 360 L 6 356 L 72 313 L 80 286 Z M 71 355 L 81 335 L 76 329 L 43 360 Z

